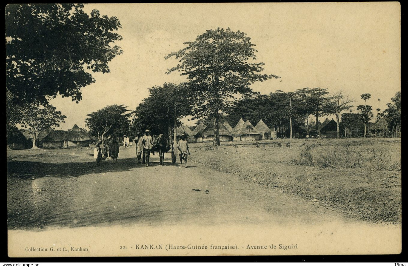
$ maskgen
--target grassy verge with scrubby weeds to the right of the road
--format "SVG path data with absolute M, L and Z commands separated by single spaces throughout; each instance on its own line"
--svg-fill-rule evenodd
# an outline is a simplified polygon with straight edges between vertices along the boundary
M 276 140 L 213 149 L 192 160 L 370 222 L 401 223 L 401 140 Z

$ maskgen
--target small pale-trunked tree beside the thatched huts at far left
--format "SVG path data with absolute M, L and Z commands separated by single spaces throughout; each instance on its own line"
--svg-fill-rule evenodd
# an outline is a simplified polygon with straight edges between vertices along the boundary
M 49 127 L 60 126 L 66 116 L 50 104 L 40 102 L 25 103 L 20 107 L 20 123 L 23 127 L 29 127 L 34 135 L 33 148 L 38 149 L 38 134 Z

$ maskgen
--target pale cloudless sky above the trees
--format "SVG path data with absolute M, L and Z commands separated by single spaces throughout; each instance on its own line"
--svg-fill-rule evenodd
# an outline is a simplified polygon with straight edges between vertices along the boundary
M 384 110 L 401 90 L 401 15 L 398 2 L 344 3 L 213 3 L 213 4 L 87 4 L 115 16 L 123 54 L 109 63 L 110 73 L 93 73 L 95 83 L 82 88 L 80 103 L 57 98 L 51 104 L 67 118 L 58 129 L 85 127 L 86 115 L 107 105 L 134 110 L 148 88 L 186 81 L 177 66 L 164 59 L 208 29 L 231 28 L 251 38 L 264 73 L 281 79 L 258 82 L 254 91 L 269 94 L 302 88 L 343 90 L 364 104 Z M 356 108 L 352 108 L 355 111 Z M 183 120 L 186 125 L 192 121 Z M 255 122 L 256 123 L 256 122 Z

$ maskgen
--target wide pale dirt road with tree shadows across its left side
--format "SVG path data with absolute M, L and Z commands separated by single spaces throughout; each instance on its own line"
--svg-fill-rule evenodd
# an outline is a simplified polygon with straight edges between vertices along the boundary
M 9 229 L 179 223 L 316 225 L 346 220 L 318 202 L 242 181 L 193 160 L 188 168 L 171 165 L 170 154 L 166 154 L 166 166 L 158 165 L 156 154 L 151 156 L 151 166 L 145 167 L 135 162 L 134 149 L 121 147 L 118 162 L 106 160 L 98 167 L 85 152 L 73 153 L 75 160 L 69 163 L 59 164 L 52 156 L 48 163 L 9 162 Z M 24 168 L 29 170 L 28 177 L 13 177 Z

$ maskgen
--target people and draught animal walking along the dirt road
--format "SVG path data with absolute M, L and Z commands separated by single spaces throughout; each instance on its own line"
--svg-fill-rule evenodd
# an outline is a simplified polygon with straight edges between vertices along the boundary
M 126 140 L 127 145 L 129 146 L 129 138 L 124 136 L 123 146 L 126 147 Z M 142 159 L 142 164 L 144 166 L 149 166 L 150 163 L 150 153 L 155 153 L 155 151 L 159 152 L 160 157 L 160 166 L 164 166 L 164 153 L 169 151 L 170 145 L 167 138 L 160 134 L 156 140 L 153 140 L 153 136 L 151 136 L 150 131 L 146 130 L 144 135 L 141 136 L 140 133 L 137 133 L 136 137 L 133 139 L 136 144 L 136 159 L 137 162 L 140 163 Z M 116 137 L 108 137 L 108 143 L 103 144 L 101 147 L 102 140 L 99 140 L 95 145 L 95 152 L 94 157 L 96 158 L 98 166 L 103 157 L 111 157 L 113 161 L 118 161 L 119 155 L 119 142 L 118 138 Z M 187 167 L 187 156 L 190 155 L 190 151 L 188 149 L 188 143 L 186 140 L 186 136 L 182 134 L 181 139 L 177 142 L 177 151 L 180 158 L 180 164 Z M 97 156 L 95 156 L 97 154 Z

